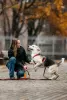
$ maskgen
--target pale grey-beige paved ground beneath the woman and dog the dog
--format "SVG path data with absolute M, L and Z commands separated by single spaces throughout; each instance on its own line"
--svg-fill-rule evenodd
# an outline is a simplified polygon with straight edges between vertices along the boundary
M 43 68 L 34 72 L 29 66 L 31 78 L 43 78 Z M 47 73 L 46 73 L 47 74 Z M 67 100 L 67 63 L 59 67 L 57 80 L 0 80 L 0 100 Z M 6 78 L 8 70 L 0 66 L 0 78 Z

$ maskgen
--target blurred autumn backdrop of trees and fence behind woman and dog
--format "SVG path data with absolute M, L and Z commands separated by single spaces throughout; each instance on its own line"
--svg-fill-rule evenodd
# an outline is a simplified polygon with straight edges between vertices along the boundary
M 43 56 L 67 59 L 67 0 L 0 0 L 0 59 L 12 39 L 27 51 L 37 44 Z

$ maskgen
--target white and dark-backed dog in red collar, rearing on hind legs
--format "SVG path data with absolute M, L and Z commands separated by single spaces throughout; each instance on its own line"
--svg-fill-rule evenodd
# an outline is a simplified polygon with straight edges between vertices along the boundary
M 62 63 L 62 60 L 59 63 L 57 63 L 47 57 L 42 57 L 41 49 L 36 45 L 29 45 L 28 48 L 31 51 L 32 61 L 35 63 L 34 68 L 37 69 L 38 67 L 41 67 L 41 65 L 43 65 L 44 67 L 43 76 L 45 75 L 46 68 L 48 68 L 48 72 L 51 75 L 51 77 L 48 79 L 57 79 L 59 77 L 58 67 Z

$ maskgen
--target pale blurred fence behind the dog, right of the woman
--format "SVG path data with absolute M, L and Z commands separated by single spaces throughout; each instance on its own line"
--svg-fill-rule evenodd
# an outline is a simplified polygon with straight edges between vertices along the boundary
M 52 58 L 67 56 L 67 38 L 61 37 L 32 37 L 29 38 L 29 44 L 35 40 L 35 44 L 39 45 L 42 55 L 51 56 Z

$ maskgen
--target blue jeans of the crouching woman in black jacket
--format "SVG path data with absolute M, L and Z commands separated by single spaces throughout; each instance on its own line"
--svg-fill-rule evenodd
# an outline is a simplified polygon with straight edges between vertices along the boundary
M 18 70 L 16 71 L 17 78 L 21 78 L 24 76 L 24 70 L 20 69 L 19 64 L 18 64 L 18 66 L 16 66 L 16 58 L 15 57 L 11 57 L 9 59 L 8 63 L 6 64 L 6 66 L 9 69 L 10 78 L 14 77 L 15 67 L 18 67 Z

